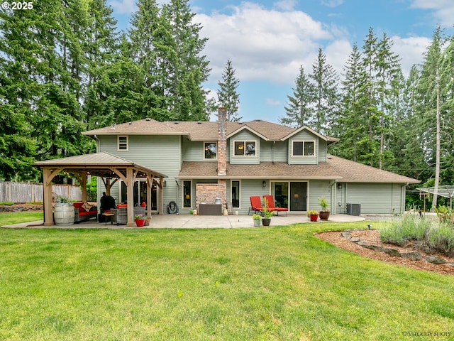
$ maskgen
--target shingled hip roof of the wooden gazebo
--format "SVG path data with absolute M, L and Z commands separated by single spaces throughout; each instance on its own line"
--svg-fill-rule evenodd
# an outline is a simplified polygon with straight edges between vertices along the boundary
M 70 156 L 67 158 L 54 158 L 52 160 L 35 162 L 35 166 L 40 168 L 65 168 L 67 172 L 80 173 L 86 171 L 87 173 L 95 176 L 115 176 L 112 168 L 133 167 L 138 173 L 151 174 L 153 176 L 167 178 L 167 175 L 157 171 L 153 171 L 145 166 L 140 166 L 137 163 L 128 161 L 124 158 L 119 158 L 111 153 L 91 153 L 79 156 Z M 123 172 L 122 172 L 123 173 Z M 140 175 L 138 175 L 140 176 Z

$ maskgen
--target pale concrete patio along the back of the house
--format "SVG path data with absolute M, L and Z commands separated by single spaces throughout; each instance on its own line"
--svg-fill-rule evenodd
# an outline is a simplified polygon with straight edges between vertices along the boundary
M 331 215 L 328 222 L 360 222 L 365 220 L 365 217 L 360 215 Z M 310 222 L 306 215 L 279 215 L 272 217 L 270 226 L 282 226 L 297 223 L 323 224 L 318 222 Z M 110 222 L 96 222 L 96 220 L 88 220 L 69 226 L 49 226 L 45 227 L 43 221 L 27 222 L 23 224 L 12 224 L 3 226 L 4 228 L 13 229 L 237 229 L 244 227 L 253 227 L 253 219 L 251 215 L 152 215 L 150 226 L 145 227 L 127 227 L 126 225 L 115 225 Z

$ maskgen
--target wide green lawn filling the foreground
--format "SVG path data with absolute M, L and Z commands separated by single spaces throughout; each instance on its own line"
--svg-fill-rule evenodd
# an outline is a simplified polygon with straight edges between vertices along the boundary
M 453 335 L 453 276 L 372 261 L 313 236 L 360 227 L 0 229 L 0 340 Z

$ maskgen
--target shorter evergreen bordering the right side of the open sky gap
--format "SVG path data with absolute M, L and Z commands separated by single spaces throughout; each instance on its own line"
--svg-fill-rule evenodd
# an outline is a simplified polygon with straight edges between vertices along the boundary
M 285 107 L 287 117 L 281 117 L 279 121 L 294 128 L 309 125 L 309 120 L 314 114 L 314 86 L 309 77 L 304 73 L 304 67 L 299 67 L 299 75 L 296 86 L 292 88 L 293 96 L 288 96 L 288 104 Z

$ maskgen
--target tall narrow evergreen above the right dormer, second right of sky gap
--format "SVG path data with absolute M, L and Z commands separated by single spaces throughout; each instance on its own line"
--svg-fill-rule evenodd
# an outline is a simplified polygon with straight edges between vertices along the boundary
M 326 55 L 321 48 L 309 77 L 313 81 L 315 101 L 314 117 L 310 121 L 311 128 L 321 134 L 327 134 L 338 114 L 338 76 L 333 66 L 326 62 Z

